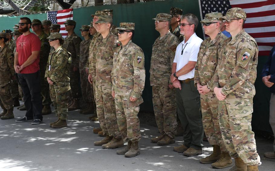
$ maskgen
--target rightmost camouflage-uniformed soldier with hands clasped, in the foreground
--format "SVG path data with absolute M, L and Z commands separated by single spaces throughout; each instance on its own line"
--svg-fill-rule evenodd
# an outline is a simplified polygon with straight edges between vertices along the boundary
M 243 29 L 246 13 L 231 8 L 219 18 L 231 34 L 220 48 L 218 65 L 213 77 L 215 95 L 219 100 L 219 125 L 225 147 L 235 159 L 231 170 L 258 170 L 254 132 L 251 129 L 254 82 L 257 77 L 258 47 Z

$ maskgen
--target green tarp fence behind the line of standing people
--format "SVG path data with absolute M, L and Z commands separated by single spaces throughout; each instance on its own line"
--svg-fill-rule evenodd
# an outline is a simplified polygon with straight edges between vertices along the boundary
M 81 25 L 89 25 L 95 11 L 103 9 L 114 10 L 114 24 L 119 26 L 120 22 L 134 22 L 135 23 L 135 35 L 133 42 L 139 45 L 145 54 L 145 69 L 146 69 L 146 81 L 143 91 L 144 103 L 141 104 L 141 111 L 147 113 L 153 113 L 152 103 L 152 88 L 149 81 L 149 69 L 150 58 L 152 52 L 152 45 L 155 39 L 159 36 L 159 33 L 155 30 L 154 20 L 158 13 L 169 13 L 170 7 L 177 7 L 183 9 L 183 14 L 193 13 L 200 20 L 199 2 L 197 0 L 167 0 L 167 1 L 152 1 L 152 2 L 140 2 L 133 4 L 117 4 L 117 5 L 101 5 L 91 6 L 85 8 L 73 9 L 73 20 L 76 21 L 75 32 L 81 37 L 79 31 Z M 20 17 L 0 17 L 0 30 L 11 29 L 19 22 Z M 47 14 L 32 14 L 26 15 L 32 19 L 44 20 L 47 19 Z M 199 25 L 196 30 L 196 34 L 203 39 L 202 27 Z M 272 132 L 269 125 L 269 100 L 270 92 L 267 87 L 261 82 L 260 73 L 267 57 L 260 56 L 257 67 L 257 79 L 255 82 L 256 95 L 254 97 L 254 113 L 252 117 L 252 127 L 257 130 L 264 130 Z

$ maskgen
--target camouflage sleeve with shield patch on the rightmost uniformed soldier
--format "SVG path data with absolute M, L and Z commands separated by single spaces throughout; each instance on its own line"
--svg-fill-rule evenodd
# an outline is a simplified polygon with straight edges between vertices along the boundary
M 237 63 L 232 71 L 231 77 L 222 88 L 222 94 L 230 94 L 240 87 L 244 81 L 250 79 L 252 64 L 255 63 L 253 58 L 254 55 L 257 54 L 257 47 L 253 44 L 250 42 L 244 42 L 238 47 L 236 54 Z

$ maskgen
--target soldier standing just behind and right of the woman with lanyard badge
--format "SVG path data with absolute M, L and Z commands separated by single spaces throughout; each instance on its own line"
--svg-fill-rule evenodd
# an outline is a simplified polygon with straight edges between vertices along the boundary
M 76 22 L 74 20 L 66 20 L 65 30 L 68 31 L 68 36 L 66 36 L 63 47 L 72 54 L 72 63 L 70 67 L 70 86 L 71 86 L 71 103 L 68 106 L 68 110 L 79 109 L 79 51 L 80 42 L 82 41 L 79 36 L 74 33 L 76 27 Z

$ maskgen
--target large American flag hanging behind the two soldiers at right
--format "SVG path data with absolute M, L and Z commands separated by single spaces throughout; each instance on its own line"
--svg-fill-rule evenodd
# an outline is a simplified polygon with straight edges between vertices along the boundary
M 230 8 L 239 7 L 246 12 L 244 30 L 259 47 L 259 56 L 268 56 L 275 45 L 275 0 L 199 0 L 201 17 L 210 12 L 223 15 Z

